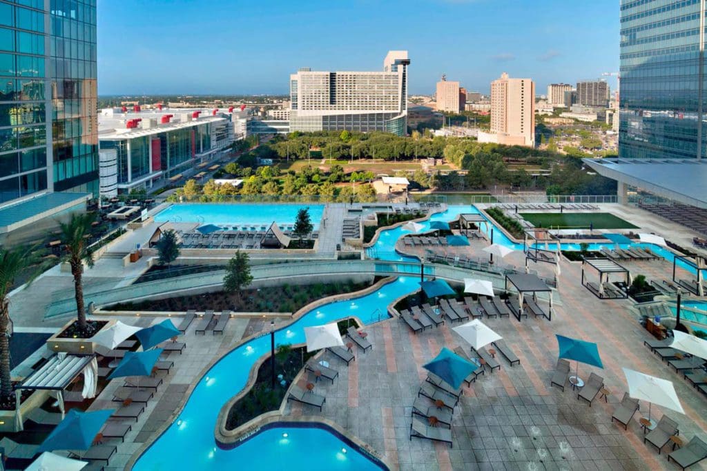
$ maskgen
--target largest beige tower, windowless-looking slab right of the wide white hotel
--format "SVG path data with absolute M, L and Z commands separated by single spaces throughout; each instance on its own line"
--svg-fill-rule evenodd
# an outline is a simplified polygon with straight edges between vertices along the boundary
M 535 145 L 535 83 L 530 78 L 509 78 L 508 73 L 491 82 L 491 133 L 509 145 Z

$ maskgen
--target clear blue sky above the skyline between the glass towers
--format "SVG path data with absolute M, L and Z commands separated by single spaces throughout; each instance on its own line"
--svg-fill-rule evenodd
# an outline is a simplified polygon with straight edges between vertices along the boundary
M 619 1 L 98 0 L 100 95 L 284 94 L 300 67 L 379 70 L 388 49 L 409 51 L 410 93 L 506 71 L 544 94 L 618 70 Z

